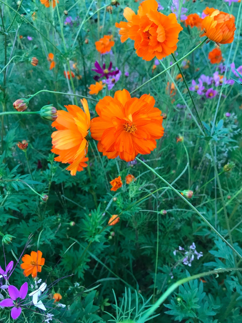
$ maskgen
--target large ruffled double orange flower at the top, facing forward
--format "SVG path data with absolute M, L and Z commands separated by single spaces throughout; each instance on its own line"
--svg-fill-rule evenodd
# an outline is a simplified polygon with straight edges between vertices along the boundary
M 156 0 L 143 1 L 137 15 L 126 7 L 124 17 L 128 22 L 116 23 L 121 28 L 121 42 L 130 38 L 135 41 L 136 54 L 150 61 L 155 56 L 162 59 L 174 53 L 178 42 L 178 34 L 183 29 L 177 23 L 176 15 L 165 16 L 157 11 Z

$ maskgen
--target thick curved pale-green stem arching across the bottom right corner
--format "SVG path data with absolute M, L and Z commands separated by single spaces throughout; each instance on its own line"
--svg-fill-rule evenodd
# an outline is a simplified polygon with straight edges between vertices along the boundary
M 238 270 L 241 271 L 242 268 L 219 268 L 219 269 L 215 269 L 215 270 L 211 270 L 211 271 L 207 271 L 204 273 L 200 273 L 197 275 L 193 275 L 190 277 L 186 277 L 183 279 L 178 280 L 176 283 L 172 284 L 166 291 L 165 293 L 156 301 L 156 303 L 154 305 L 152 305 L 147 312 L 145 313 L 145 315 L 143 315 L 140 319 L 138 319 L 137 323 L 144 323 L 146 321 L 146 319 L 152 315 L 154 313 L 154 311 L 156 310 L 156 308 L 158 308 L 164 301 L 165 299 L 172 293 L 174 292 L 174 290 L 176 290 L 177 287 L 179 287 L 182 284 L 185 284 L 187 282 L 189 282 L 190 280 L 194 280 L 197 278 L 201 278 L 204 276 L 209 276 L 209 275 L 216 275 L 216 277 L 218 276 L 218 273 L 223 273 L 223 272 L 227 272 L 227 271 L 234 271 L 234 270 Z

